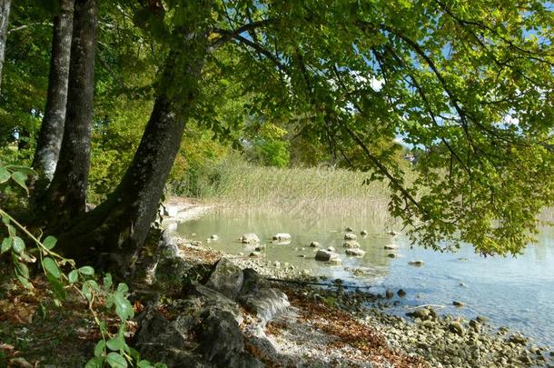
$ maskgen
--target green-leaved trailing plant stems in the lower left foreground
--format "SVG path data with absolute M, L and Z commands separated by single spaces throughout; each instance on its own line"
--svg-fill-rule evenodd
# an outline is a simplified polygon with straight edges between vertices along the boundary
M 28 193 L 25 181 L 27 176 L 35 174 L 32 169 L 25 166 L 1 165 L 0 184 L 5 184 L 10 179 L 22 186 Z M 86 363 L 86 368 L 124 368 L 129 365 L 140 368 L 162 368 L 163 363 L 150 363 L 142 360 L 140 354 L 125 343 L 126 322 L 134 317 L 133 306 L 127 299 L 129 288 L 125 283 L 119 283 L 117 287 L 110 274 L 105 274 L 102 284 L 95 279 L 94 268 L 89 265 L 77 267 L 74 260 L 64 258 L 54 252 L 56 239 L 54 236 L 35 236 L 25 226 L 18 223 L 15 218 L 0 208 L 0 216 L 4 224 L 7 236 L 2 239 L 0 254 L 9 254 L 14 266 L 15 278 L 27 289 L 33 289 L 30 281 L 27 264 L 40 263 L 45 277 L 54 292 L 54 304 L 63 306 L 67 289 L 73 289 L 79 293 L 88 305 L 88 310 L 93 316 L 102 334 L 102 340 L 96 343 L 94 358 Z M 31 240 L 31 244 L 25 244 L 23 234 Z M 64 273 L 64 269 L 69 272 Z M 110 333 L 107 324 L 101 320 L 99 308 L 114 311 L 119 317 L 117 333 Z

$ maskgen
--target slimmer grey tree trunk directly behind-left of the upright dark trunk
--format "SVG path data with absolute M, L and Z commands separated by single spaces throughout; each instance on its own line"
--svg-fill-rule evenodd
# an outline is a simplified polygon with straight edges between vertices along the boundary
M 52 57 L 43 124 L 36 143 L 33 167 L 49 182 L 54 176 L 64 137 L 67 80 L 73 31 L 74 0 L 59 0 L 60 13 L 54 16 Z

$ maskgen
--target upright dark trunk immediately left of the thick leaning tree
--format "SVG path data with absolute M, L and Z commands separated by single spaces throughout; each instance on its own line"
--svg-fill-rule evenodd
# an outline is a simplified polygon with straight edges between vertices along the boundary
M 97 0 L 76 0 L 64 138 L 42 210 L 49 228 L 84 214 L 91 157 Z

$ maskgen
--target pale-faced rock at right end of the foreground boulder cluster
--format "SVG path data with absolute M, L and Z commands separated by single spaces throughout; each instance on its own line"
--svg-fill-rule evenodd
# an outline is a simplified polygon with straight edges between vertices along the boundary
M 291 305 L 285 293 L 278 289 L 261 289 L 241 296 L 240 302 L 247 311 L 256 315 L 262 326 L 285 312 Z

